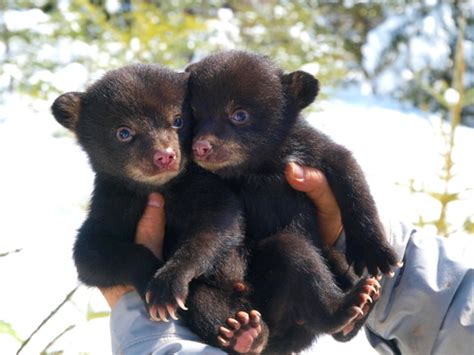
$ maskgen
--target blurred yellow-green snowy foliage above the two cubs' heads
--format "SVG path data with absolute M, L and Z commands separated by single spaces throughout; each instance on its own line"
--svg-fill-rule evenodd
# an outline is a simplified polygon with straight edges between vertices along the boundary
M 191 60 L 222 49 L 243 48 L 272 56 L 288 70 L 313 63 L 330 85 L 342 78 L 351 54 L 321 21 L 311 2 L 135 1 L 109 12 L 104 1 L 12 1 L 2 10 L 36 11 L 33 26 L 0 20 L 4 54 L 0 91 L 47 97 L 62 91 L 58 72 L 71 63 L 84 82 L 132 62 L 157 62 L 183 69 Z M 11 11 L 10 11 L 11 13 Z M 5 11 L 2 15 L 5 17 Z M 91 76 L 91 77 L 89 77 Z M 61 82 L 62 81 L 62 82 Z M 79 88 L 78 88 L 79 89 Z

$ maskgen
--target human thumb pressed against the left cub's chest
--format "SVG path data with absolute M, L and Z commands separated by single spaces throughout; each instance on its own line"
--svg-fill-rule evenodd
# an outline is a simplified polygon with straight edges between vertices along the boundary
M 165 200 L 158 193 L 148 196 L 148 204 L 138 222 L 135 243 L 150 249 L 158 259 L 163 259 L 163 242 L 165 237 Z

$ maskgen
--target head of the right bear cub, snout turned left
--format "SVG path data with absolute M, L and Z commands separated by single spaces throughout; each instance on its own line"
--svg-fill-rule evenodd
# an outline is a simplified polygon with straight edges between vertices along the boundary
M 285 74 L 269 58 L 228 51 L 187 69 L 195 118 L 193 158 L 224 176 L 261 171 L 281 149 L 300 111 L 319 91 L 310 74 Z

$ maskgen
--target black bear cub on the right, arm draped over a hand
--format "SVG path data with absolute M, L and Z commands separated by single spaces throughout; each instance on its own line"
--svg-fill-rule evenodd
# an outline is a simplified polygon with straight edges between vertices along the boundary
M 389 273 L 397 259 L 351 153 L 300 118 L 319 91 L 317 80 L 284 74 L 268 58 L 242 51 L 211 55 L 187 71 L 194 159 L 224 177 L 244 205 L 253 243 L 248 274 L 270 329 L 265 352 L 300 351 L 320 333 L 349 339 L 377 281 L 351 279 L 331 256 L 315 206 L 286 182 L 286 164 L 315 167 L 327 177 L 341 209 L 346 257 L 358 275 L 365 268 Z M 340 334 L 351 323 L 353 331 Z

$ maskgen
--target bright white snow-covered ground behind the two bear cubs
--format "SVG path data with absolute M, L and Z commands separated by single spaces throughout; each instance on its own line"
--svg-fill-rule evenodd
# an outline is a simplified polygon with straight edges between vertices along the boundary
M 49 103 L 12 96 L 0 105 L 0 258 L 2 292 L 0 320 L 26 338 L 76 285 L 71 260 L 75 231 L 85 215 L 92 174 L 86 158 L 49 114 Z M 415 179 L 436 187 L 442 140 L 439 120 L 382 98 L 345 90 L 315 105 L 310 120 L 336 141 L 354 151 L 367 173 L 376 200 L 392 218 L 416 221 L 422 213 L 434 217 L 439 206 L 427 197 L 410 195 L 397 184 Z M 458 131 L 457 178 L 454 189 L 474 182 L 474 130 Z M 460 225 L 474 211 L 472 190 L 453 204 L 450 220 Z M 57 316 L 33 338 L 25 354 L 39 353 L 66 327 L 76 327 L 49 349 L 66 354 L 110 353 L 108 319 L 88 321 L 86 313 L 107 307 L 96 291 L 81 288 Z M 2 354 L 16 352 L 19 343 L 0 334 Z M 320 339 L 319 353 L 370 354 L 362 335 L 348 344 Z M 311 351 L 312 352 L 312 351 Z

